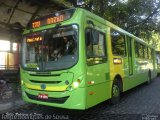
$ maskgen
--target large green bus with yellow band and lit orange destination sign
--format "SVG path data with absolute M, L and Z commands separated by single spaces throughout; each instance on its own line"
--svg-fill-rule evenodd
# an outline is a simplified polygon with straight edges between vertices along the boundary
M 25 101 L 88 109 L 156 77 L 155 50 L 82 8 L 32 21 L 23 33 L 21 86 Z

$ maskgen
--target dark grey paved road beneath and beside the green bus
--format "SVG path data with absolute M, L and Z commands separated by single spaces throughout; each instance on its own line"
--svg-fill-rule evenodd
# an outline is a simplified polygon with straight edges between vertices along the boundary
M 142 84 L 124 93 L 116 105 L 106 101 L 86 111 L 75 111 L 27 104 L 2 114 L 3 118 L 9 114 L 34 115 L 37 120 L 160 120 L 160 77 L 150 85 Z

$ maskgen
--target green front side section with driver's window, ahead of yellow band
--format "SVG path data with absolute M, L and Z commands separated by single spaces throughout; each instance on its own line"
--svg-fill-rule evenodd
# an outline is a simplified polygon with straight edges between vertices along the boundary
M 110 91 L 105 33 L 92 28 L 87 28 L 85 32 L 86 105 L 88 108 L 106 100 Z

